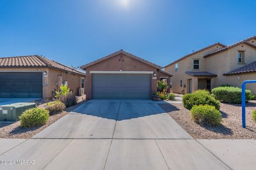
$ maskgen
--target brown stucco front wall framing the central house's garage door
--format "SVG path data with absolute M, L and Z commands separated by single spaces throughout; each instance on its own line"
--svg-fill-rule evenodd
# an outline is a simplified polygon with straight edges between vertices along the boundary
M 157 91 L 157 79 L 159 80 L 160 74 L 157 69 L 153 66 L 135 60 L 132 57 L 126 56 L 124 54 L 118 54 L 105 61 L 99 62 L 97 64 L 91 65 L 86 68 L 86 78 L 85 78 L 85 93 L 86 98 L 92 98 L 92 74 L 90 71 L 153 71 L 156 74 L 156 79 L 153 79 L 154 75 L 151 74 L 151 93 Z M 159 74 L 159 75 L 158 75 Z M 166 77 L 166 75 L 165 75 Z

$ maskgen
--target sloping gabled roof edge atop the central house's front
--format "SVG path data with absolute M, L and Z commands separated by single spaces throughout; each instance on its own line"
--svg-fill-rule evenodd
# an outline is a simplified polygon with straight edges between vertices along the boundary
M 85 70 L 86 67 L 89 67 L 89 66 L 91 66 L 91 65 L 97 64 L 97 63 L 102 62 L 102 61 L 105 61 L 105 60 L 107 60 L 108 58 L 114 57 L 114 56 L 116 56 L 116 55 L 118 55 L 118 54 L 127 55 L 127 56 L 129 56 L 129 57 L 131 57 L 131 58 L 134 58 L 135 60 L 138 60 L 138 61 L 140 61 L 140 62 L 142 62 L 142 63 L 145 63 L 145 64 L 148 64 L 148 65 L 150 65 L 150 66 L 153 66 L 153 67 L 155 67 L 155 68 L 157 68 L 157 69 L 159 69 L 159 70 L 163 69 L 163 67 L 161 67 L 161 66 L 159 66 L 159 65 L 156 65 L 156 64 L 154 64 L 154 63 L 151 63 L 151 62 L 149 62 L 149 61 L 147 61 L 147 60 L 144 60 L 144 59 L 142 59 L 142 58 L 140 58 L 140 57 L 138 57 L 138 56 L 135 56 L 135 55 L 133 55 L 133 54 L 131 54 L 131 53 L 125 52 L 123 49 L 121 49 L 121 50 L 119 50 L 119 51 L 117 51 L 117 52 L 115 52 L 115 53 L 112 53 L 112 54 L 110 54 L 110 55 L 107 55 L 107 56 L 105 56 L 105 57 L 102 57 L 102 58 L 100 58 L 100 59 L 98 59 L 98 60 L 95 60 L 95 61 L 93 61 L 93 62 L 91 62 L 91 63 L 85 64 L 85 65 L 81 66 L 80 68 Z

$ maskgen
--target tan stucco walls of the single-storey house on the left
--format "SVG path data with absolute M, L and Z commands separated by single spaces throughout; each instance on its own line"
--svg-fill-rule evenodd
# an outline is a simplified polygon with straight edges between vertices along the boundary
M 68 87 L 78 94 L 78 89 L 81 87 L 81 75 L 68 74 L 66 72 L 49 69 L 49 68 L 1 68 L 0 72 L 47 72 L 43 75 L 43 98 L 53 97 L 52 91 L 58 90 L 55 82 L 58 81 L 58 76 L 62 76 L 62 81 L 68 81 Z

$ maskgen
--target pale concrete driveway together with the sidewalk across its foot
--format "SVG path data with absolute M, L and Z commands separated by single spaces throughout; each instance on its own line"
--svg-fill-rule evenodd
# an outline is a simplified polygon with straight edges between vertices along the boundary
M 33 139 L 0 140 L 4 146 L 0 160 L 34 163 L 0 166 L 4 169 L 253 169 L 253 164 L 236 165 L 239 162 L 232 155 L 227 154 L 228 158 L 222 155 L 227 153 L 223 150 L 225 146 L 216 150 L 214 143 L 218 141 L 191 139 L 154 101 L 90 100 Z M 256 143 L 244 144 L 250 146 L 249 151 L 256 149 Z M 221 145 L 220 141 L 217 148 Z M 238 155 L 236 159 L 246 161 L 247 156 L 252 159 L 256 156 L 254 151 L 245 152 L 244 147 L 239 152 L 237 146 L 242 143 L 229 147 L 231 153 Z

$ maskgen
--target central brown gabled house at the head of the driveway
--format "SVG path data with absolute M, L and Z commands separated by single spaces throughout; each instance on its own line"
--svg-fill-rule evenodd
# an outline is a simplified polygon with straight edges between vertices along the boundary
M 157 80 L 170 83 L 172 74 L 163 67 L 119 50 L 81 66 L 86 70 L 87 99 L 151 99 Z

